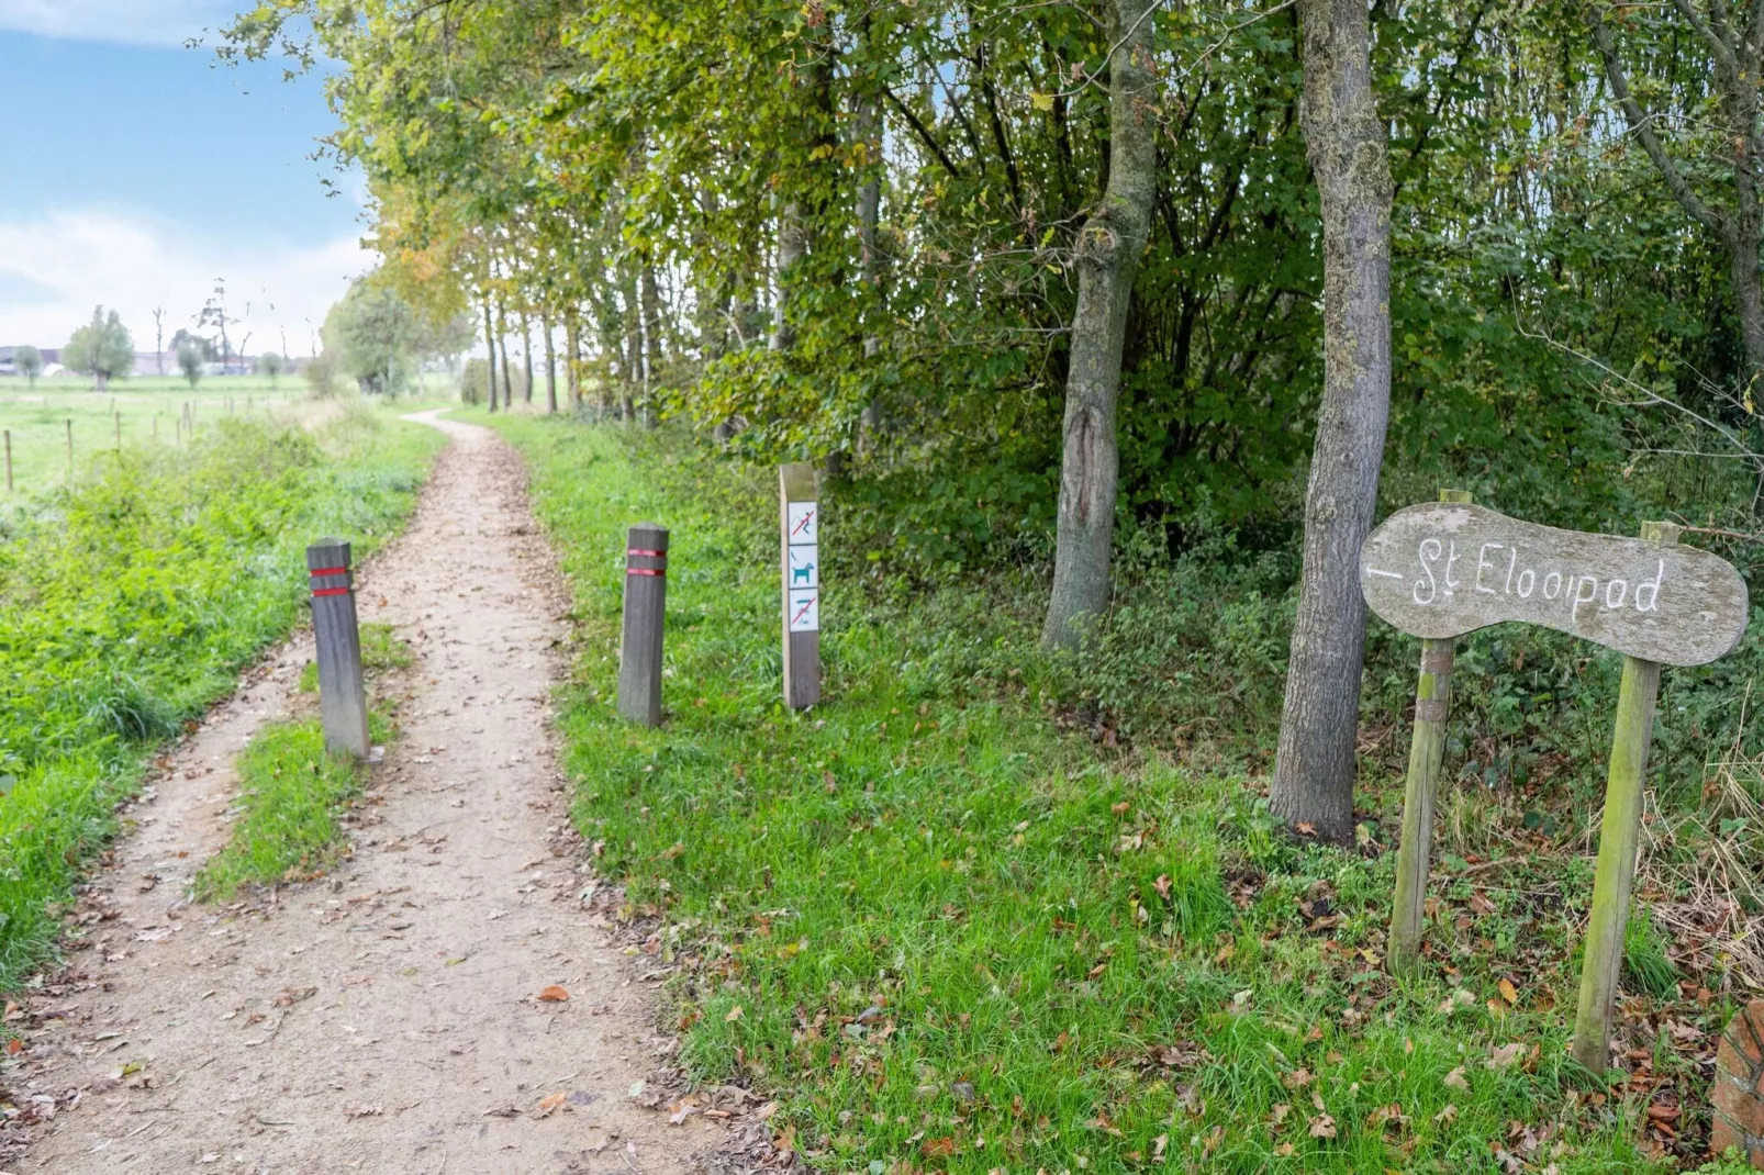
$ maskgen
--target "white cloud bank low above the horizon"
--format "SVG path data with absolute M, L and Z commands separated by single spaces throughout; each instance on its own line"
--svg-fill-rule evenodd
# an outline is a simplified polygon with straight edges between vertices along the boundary
M 60 348 L 92 307 L 115 307 L 138 351 L 153 349 L 153 307 L 166 309 L 166 339 L 192 319 L 224 279 L 233 346 L 250 335 L 250 353 L 307 355 L 325 312 L 377 263 L 355 236 L 316 249 L 247 236 L 205 238 L 150 217 L 76 210 L 35 219 L 0 219 L 0 344 Z M 25 293 L 30 291 L 30 293 Z M 249 305 L 249 311 L 247 311 Z

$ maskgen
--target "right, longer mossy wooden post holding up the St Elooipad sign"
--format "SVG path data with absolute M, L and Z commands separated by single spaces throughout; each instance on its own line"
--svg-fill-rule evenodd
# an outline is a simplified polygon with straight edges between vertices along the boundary
M 1674 545 L 1672 522 L 1642 522 L 1642 538 Z M 1618 725 L 1605 771 L 1605 815 L 1598 826 L 1598 872 L 1593 875 L 1593 910 L 1588 916 L 1581 960 L 1581 1002 L 1573 1014 L 1573 1059 L 1596 1074 L 1611 1064 L 1611 1002 L 1623 972 L 1623 932 L 1630 919 L 1635 849 L 1642 833 L 1642 796 L 1648 783 L 1648 743 L 1653 739 L 1660 662 L 1623 658 L 1618 686 Z

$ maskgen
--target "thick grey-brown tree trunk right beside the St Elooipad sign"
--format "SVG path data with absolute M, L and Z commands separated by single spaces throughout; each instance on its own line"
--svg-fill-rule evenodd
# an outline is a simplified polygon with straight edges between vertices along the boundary
M 1349 842 L 1365 651 L 1360 543 L 1372 529 L 1390 418 L 1392 183 L 1365 0 L 1298 0 L 1298 19 L 1300 122 L 1323 212 L 1323 402 L 1268 805 L 1293 827 Z

